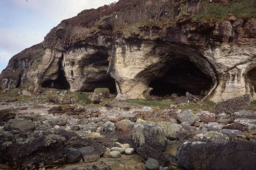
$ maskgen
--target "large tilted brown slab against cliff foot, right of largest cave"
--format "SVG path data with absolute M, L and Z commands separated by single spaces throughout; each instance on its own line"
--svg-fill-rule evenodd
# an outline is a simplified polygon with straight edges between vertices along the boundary
M 237 112 L 239 110 L 248 110 L 250 100 L 250 94 L 246 94 L 238 98 L 232 98 L 229 100 L 218 102 L 214 106 L 214 113 L 220 114 L 225 112 L 228 114 L 233 114 L 234 112 Z

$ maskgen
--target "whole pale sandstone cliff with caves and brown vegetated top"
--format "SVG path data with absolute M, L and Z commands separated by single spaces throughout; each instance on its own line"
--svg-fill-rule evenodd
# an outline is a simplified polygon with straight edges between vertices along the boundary
M 255 0 L 119 0 L 63 20 L 29 50 L 40 59 L 26 50 L 14 56 L 2 89 L 107 87 L 116 100 L 186 92 L 214 102 L 243 94 L 256 100 Z

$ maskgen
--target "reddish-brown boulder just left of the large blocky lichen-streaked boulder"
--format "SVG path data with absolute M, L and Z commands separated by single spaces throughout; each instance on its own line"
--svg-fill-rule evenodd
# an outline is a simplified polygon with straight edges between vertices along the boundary
M 132 128 L 134 126 L 134 122 L 130 120 L 121 120 L 115 124 L 116 126 L 116 134 L 128 136 L 132 134 Z

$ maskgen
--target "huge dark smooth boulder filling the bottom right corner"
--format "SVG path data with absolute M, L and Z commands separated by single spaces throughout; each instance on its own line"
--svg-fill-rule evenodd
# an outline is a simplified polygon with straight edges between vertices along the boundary
M 185 142 L 177 152 L 178 165 L 187 170 L 250 170 L 256 166 L 256 143 Z

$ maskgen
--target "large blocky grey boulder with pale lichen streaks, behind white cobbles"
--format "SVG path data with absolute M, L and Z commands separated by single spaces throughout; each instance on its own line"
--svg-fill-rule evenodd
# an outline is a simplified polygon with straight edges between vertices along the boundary
M 167 146 L 163 128 L 143 124 L 136 124 L 132 128 L 131 144 L 135 150 L 142 146 L 149 146 L 163 151 Z

